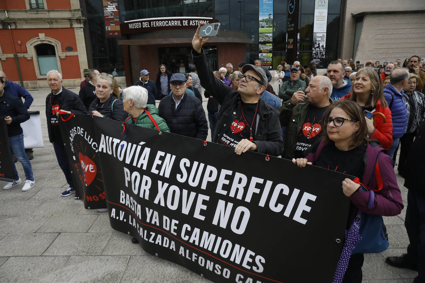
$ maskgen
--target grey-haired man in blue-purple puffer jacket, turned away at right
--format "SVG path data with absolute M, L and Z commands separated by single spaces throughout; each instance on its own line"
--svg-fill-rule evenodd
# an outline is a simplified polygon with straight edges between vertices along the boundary
M 403 93 L 408 81 L 408 70 L 404 68 L 396 69 L 391 72 L 390 83 L 384 89 L 385 100 L 391 110 L 391 118 L 393 120 L 393 144 L 388 150 L 388 155 L 391 158 L 407 125 L 407 109 L 403 100 Z

